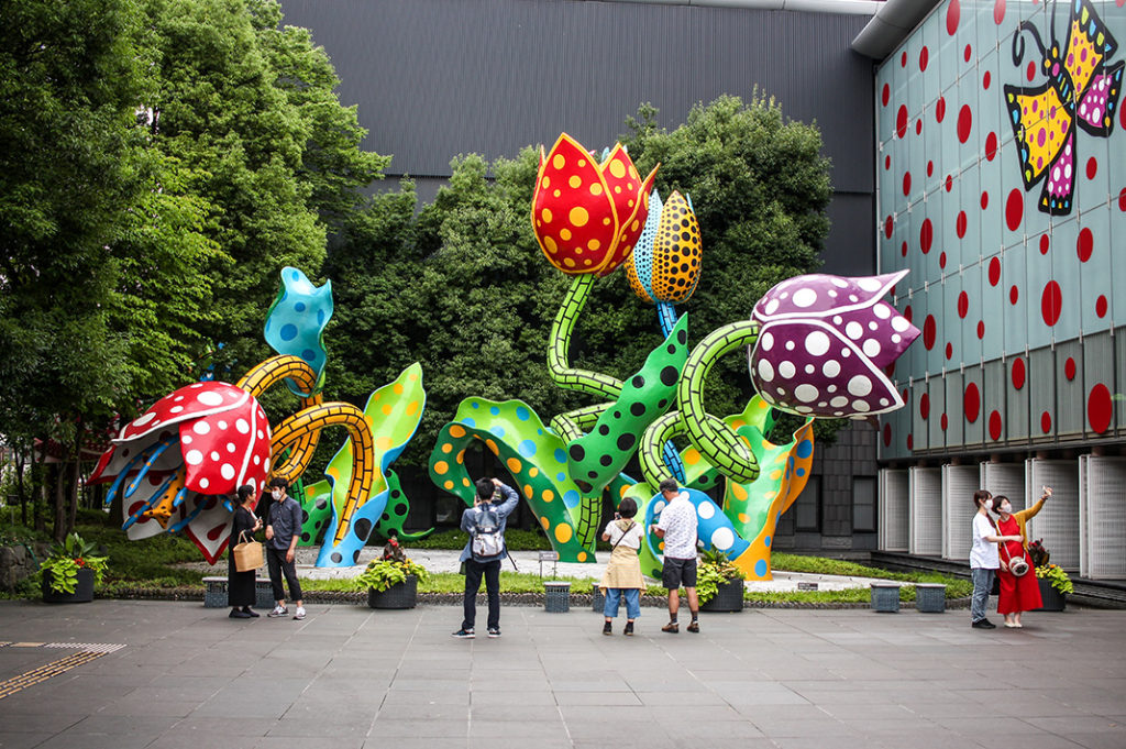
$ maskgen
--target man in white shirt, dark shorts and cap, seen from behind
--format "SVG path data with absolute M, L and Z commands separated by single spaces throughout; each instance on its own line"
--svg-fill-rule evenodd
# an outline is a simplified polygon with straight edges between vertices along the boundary
M 688 493 L 681 492 L 676 479 L 665 479 L 660 485 L 664 497 L 664 508 L 660 521 L 653 526 L 658 538 L 664 540 L 664 567 L 661 585 L 669 589 L 669 623 L 661 632 L 676 634 L 677 612 L 680 609 L 680 586 L 688 594 L 688 610 L 692 614 L 688 631 L 700 631 L 699 599 L 696 597 L 696 507 L 688 501 Z

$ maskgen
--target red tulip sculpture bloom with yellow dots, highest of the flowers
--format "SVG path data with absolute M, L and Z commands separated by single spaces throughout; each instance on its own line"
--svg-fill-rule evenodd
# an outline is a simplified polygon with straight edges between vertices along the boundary
M 548 262 L 568 275 L 609 275 L 629 256 L 649 215 L 649 190 L 620 144 L 597 163 L 566 133 L 539 151 L 531 226 Z

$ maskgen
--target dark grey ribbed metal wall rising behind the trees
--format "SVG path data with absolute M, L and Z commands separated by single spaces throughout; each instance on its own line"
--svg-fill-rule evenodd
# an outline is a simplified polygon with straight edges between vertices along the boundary
M 816 121 L 838 191 L 825 270 L 873 273 L 872 61 L 866 16 L 572 0 L 282 0 L 313 30 L 388 173 L 444 178 L 458 153 L 511 157 L 566 131 L 614 142 L 650 101 L 662 124 L 698 101 L 749 99 Z M 421 180 L 430 182 L 431 180 Z M 432 185 L 420 185 L 431 195 Z

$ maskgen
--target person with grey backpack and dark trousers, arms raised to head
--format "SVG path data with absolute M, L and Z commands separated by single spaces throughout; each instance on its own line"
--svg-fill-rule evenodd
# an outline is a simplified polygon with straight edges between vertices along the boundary
M 462 628 L 454 633 L 461 640 L 476 636 L 473 625 L 477 618 L 477 590 L 481 589 L 482 577 L 489 592 L 489 636 L 500 636 L 500 563 L 508 555 L 504 526 L 520 499 L 511 487 L 499 479 L 480 479 L 475 488 L 473 507 L 462 512 L 462 530 L 470 534 L 470 541 L 461 556 L 465 565 L 464 618 Z

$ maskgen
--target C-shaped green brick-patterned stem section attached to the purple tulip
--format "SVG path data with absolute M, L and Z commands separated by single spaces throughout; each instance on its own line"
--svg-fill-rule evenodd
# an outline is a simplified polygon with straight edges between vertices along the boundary
M 688 439 L 724 475 L 749 483 L 759 476 L 759 464 L 747 444 L 720 419 L 704 410 L 704 382 L 713 365 L 724 354 L 756 341 L 757 322 L 732 322 L 708 333 L 685 364 L 677 400 Z

